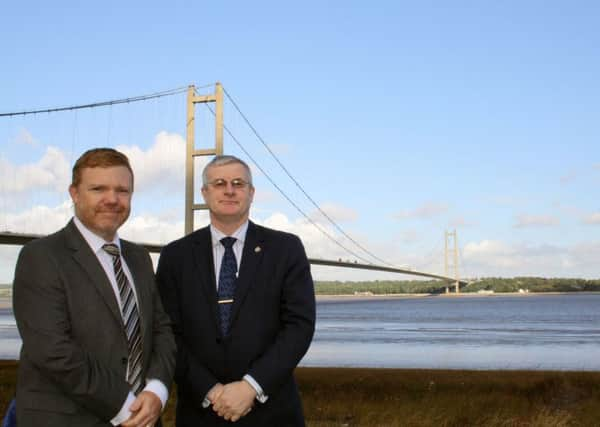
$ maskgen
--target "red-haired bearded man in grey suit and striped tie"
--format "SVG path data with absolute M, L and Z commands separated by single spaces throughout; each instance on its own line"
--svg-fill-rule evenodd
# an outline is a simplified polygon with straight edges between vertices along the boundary
M 129 160 L 109 148 L 87 151 L 69 193 L 73 219 L 24 246 L 17 261 L 17 424 L 153 426 L 175 342 L 148 252 L 117 234 L 130 212 Z

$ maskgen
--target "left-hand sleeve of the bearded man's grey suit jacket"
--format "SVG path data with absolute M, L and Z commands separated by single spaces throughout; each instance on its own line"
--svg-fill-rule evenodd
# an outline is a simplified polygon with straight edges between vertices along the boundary
M 64 395 L 108 421 L 130 387 L 72 339 L 66 278 L 49 252 L 43 245 L 29 244 L 17 260 L 13 309 L 27 348 L 24 355 Z

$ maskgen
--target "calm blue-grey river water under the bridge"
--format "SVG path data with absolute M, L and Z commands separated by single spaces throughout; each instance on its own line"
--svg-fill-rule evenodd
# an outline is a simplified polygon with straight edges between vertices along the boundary
M 0 309 L 0 358 L 19 347 Z M 320 299 L 301 365 L 600 371 L 600 294 Z

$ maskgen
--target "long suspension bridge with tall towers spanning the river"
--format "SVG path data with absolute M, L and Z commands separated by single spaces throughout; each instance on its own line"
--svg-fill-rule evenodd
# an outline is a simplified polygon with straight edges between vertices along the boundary
M 371 270 L 371 271 L 381 271 L 381 272 L 390 272 L 390 273 L 399 273 L 411 276 L 419 276 L 430 279 L 437 279 L 446 282 L 447 284 L 454 283 L 454 287 L 456 292 L 459 292 L 460 286 L 465 285 L 467 282 L 464 280 L 460 280 L 458 276 L 458 259 L 457 259 L 457 245 L 456 245 L 456 232 L 454 232 L 454 257 L 453 262 L 451 263 L 451 267 L 454 270 L 454 275 L 451 276 L 448 273 L 448 238 L 449 234 L 446 233 L 446 250 L 445 250 L 445 274 L 437 274 L 431 273 L 427 271 L 420 271 L 408 267 L 397 267 L 394 266 L 372 251 L 365 248 L 361 245 L 356 239 L 350 236 L 344 229 L 342 229 L 336 221 L 334 221 L 330 215 L 328 215 L 308 194 L 308 192 L 302 187 L 302 185 L 294 178 L 294 176 L 289 172 L 289 170 L 285 167 L 283 162 L 278 158 L 275 152 L 267 145 L 264 139 L 257 132 L 256 128 L 252 125 L 250 120 L 243 114 L 241 109 L 237 106 L 231 95 L 223 88 L 223 86 L 219 83 L 214 85 L 214 92 L 210 93 L 199 93 L 200 89 L 206 89 L 207 87 L 212 88 L 213 85 L 207 86 L 187 86 L 185 88 L 176 88 L 164 92 L 152 93 L 149 95 L 142 95 L 130 98 L 116 99 L 111 101 L 102 101 L 95 103 L 87 103 L 81 105 L 73 105 L 73 106 L 63 106 L 63 107 L 53 107 L 53 108 L 45 108 L 45 109 L 34 109 L 34 110 L 22 110 L 17 112 L 7 112 L 0 113 L 0 120 L 3 118 L 16 118 L 23 117 L 29 115 L 41 115 L 41 114 L 51 114 L 51 113 L 60 113 L 60 112 L 77 112 L 78 110 L 83 109 L 96 109 L 96 108 L 111 108 L 120 104 L 133 104 L 139 103 L 143 101 L 151 101 L 156 100 L 158 98 L 170 97 L 177 94 L 186 93 L 186 105 L 187 105 L 187 114 L 186 114 L 186 161 L 185 161 L 185 224 L 184 224 L 184 233 L 188 234 L 194 230 L 194 217 L 195 211 L 201 211 L 206 209 L 206 205 L 195 203 L 195 197 L 197 191 L 195 191 L 194 186 L 196 182 L 196 174 L 195 174 L 195 166 L 196 159 L 202 156 L 214 156 L 218 154 L 223 154 L 223 138 L 224 134 L 226 134 L 237 146 L 244 152 L 246 157 L 254 164 L 254 166 L 266 177 L 266 179 L 271 183 L 271 185 L 280 193 L 280 195 L 287 200 L 287 202 L 293 206 L 293 208 L 298 211 L 307 222 L 309 222 L 315 229 L 317 229 L 320 233 L 322 233 L 327 239 L 329 239 L 332 243 L 334 243 L 339 249 L 344 251 L 347 254 L 350 254 L 354 261 L 343 261 L 341 258 L 338 260 L 330 260 L 330 259 L 321 259 L 309 257 L 309 262 L 313 265 L 321 265 L 321 266 L 330 266 L 330 267 L 338 267 L 338 268 L 350 268 L 350 269 L 359 269 L 359 270 Z M 327 231 L 323 226 L 319 225 L 314 219 L 308 215 L 297 202 L 295 202 L 291 196 L 285 192 L 282 187 L 277 183 L 277 181 L 271 178 L 271 175 L 268 171 L 261 166 L 261 163 L 248 152 L 244 145 L 242 144 L 240 138 L 236 136 L 234 131 L 225 124 L 223 120 L 224 115 L 224 99 L 227 99 L 228 102 L 233 106 L 234 110 L 237 114 L 242 118 L 243 123 L 247 125 L 250 129 L 251 134 L 254 135 L 255 138 L 260 141 L 260 143 L 267 150 L 269 155 L 274 159 L 276 165 L 280 167 L 285 175 L 294 183 L 295 187 L 300 191 L 300 193 L 310 202 L 310 204 L 325 218 L 329 224 L 337 231 L 338 236 L 343 236 L 344 243 L 342 243 L 341 239 L 339 239 L 333 233 Z M 205 104 L 207 107 L 207 111 L 210 112 L 214 120 L 214 147 L 197 149 L 195 145 L 195 131 L 196 131 L 196 104 Z M 214 108 L 213 108 L 214 106 Z M 111 110 L 112 117 L 112 110 Z M 110 127 L 110 126 L 109 126 Z M 110 133 L 110 132 L 109 132 Z M 107 138 L 110 139 L 110 138 Z M 1 160 L 1 159 L 0 159 Z M 27 242 L 42 237 L 40 234 L 32 234 L 27 232 L 21 232 L 17 230 L 5 230 L 0 231 L 0 245 L 24 245 Z M 451 236 L 450 236 L 451 237 Z M 138 242 L 139 244 L 145 246 L 150 252 L 159 253 L 162 245 L 156 243 L 144 243 Z M 350 249 L 348 246 L 352 245 L 353 249 Z M 365 254 L 360 255 L 359 254 Z M 310 254 L 309 254 L 310 255 Z M 368 257 L 368 258 L 367 258 Z M 374 261 L 374 262 L 373 262 Z

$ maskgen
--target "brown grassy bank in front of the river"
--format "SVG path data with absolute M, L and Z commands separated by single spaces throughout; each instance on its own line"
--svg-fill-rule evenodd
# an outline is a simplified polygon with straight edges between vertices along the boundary
M 0 363 L 1 410 L 15 368 Z M 310 427 L 600 426 L 600 372 L 298 368 L 296 377 Z

